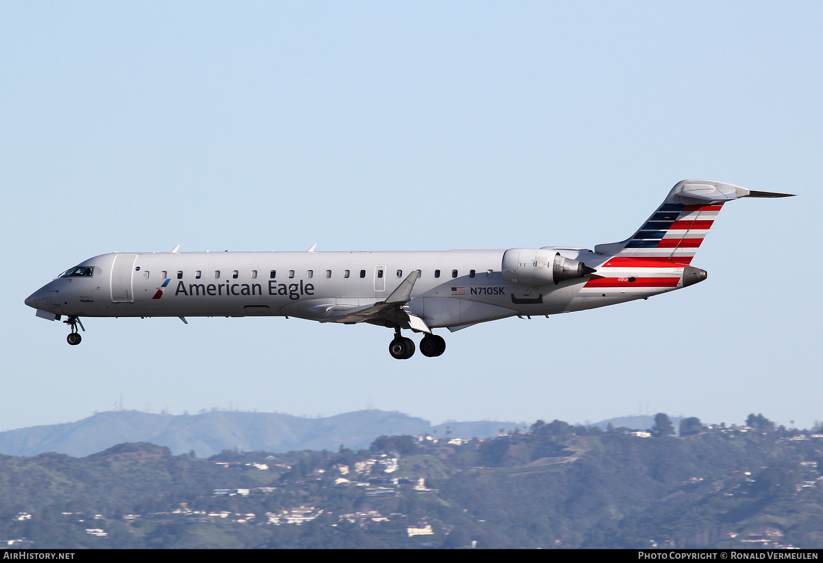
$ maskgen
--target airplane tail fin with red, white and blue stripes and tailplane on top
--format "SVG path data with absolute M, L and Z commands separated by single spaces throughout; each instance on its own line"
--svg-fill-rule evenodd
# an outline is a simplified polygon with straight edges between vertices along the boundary
M 597 244 L 597 254 L 689 264 L 723 203 L 738 198 L 787 198 L 793 193 L 753 192 L 713 180 L 682 180 L 635 235 Z

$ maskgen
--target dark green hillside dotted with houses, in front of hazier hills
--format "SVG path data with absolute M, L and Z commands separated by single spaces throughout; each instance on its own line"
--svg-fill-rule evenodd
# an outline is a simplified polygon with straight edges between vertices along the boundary
M 358 451 L 226 450 L 204 459 L 131 443 L 85 458 L 2 456 L 0 540 L 823 547 L 823 436 L 774 428 L 762 416 L 748 427 L 695 421 L 681 422 L 682 437 L 537 421 L 491 440 L 382 436 Z

